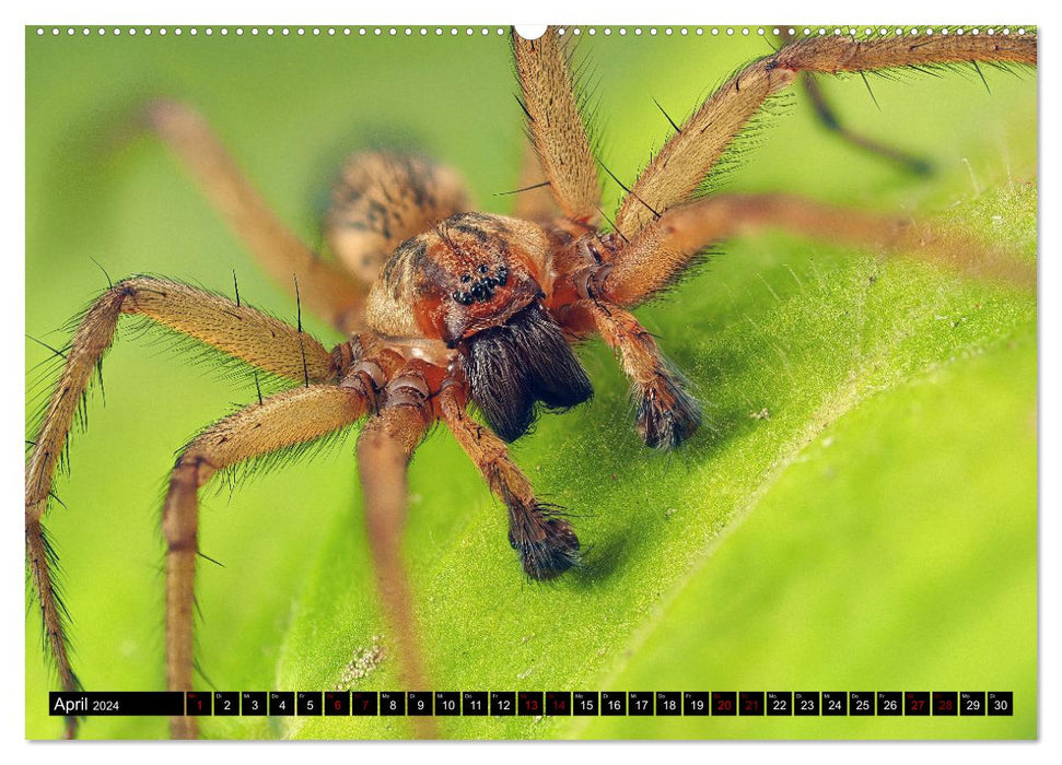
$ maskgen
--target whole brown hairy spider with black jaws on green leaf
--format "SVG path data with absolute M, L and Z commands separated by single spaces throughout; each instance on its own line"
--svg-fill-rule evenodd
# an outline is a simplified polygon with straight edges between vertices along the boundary
M 405 471 L 412 451 L 441 422 L 505 506 L 509 542 L 526 574 L 551 579 L 577 564 L 573 523 L 539 501 L 509 457 L 541 409 L 592 396 L 573 346 L 600 336 L 631 380 L 634 426 L 646 445 L 672 449 L 701 423 L 680 373 L 631 308 L 673 285 L 703 249 L 748 227 L 782 227 L 860 245 L 917 248 L 959 267 L 1026 280 L 1005 254 L 973 242 L 940 239 L 894 220 L 854 214 L 781 196 L 716 195 L 697 189 L 732 139 L 771 94 L 802 71 L 969 60 L 1035 63 L 1031 35 L 853 43 L 816 38 L 752 62 L 713 94 L 638 179 L 614 217 L 602 210 L 602 172 L 591 150 L 557 30 L 536 42 L 514 38 L 514 57 L 536 163 L 513 216 L 468 210 L 456 174 L 428 160 L 372 153 L 345 166 L 327 219 L 325 261 L 266 209 L 197 114 L 155 103 L 149 122 L 199 178 L 262 264 L 297 275 L 300 304 L 327 317 L 349 340 L 326 349 L 305 332 L 234 301 L 178 282 L 122 280 L 84 315 L 62 351 L 66 367 L 34 438 L 26 469 L 27 560 L 49 647 L 63 687 L 75 678 L 67 657 L 43 516 L 56 466 L 82 393 L 124 314 L 147 317 L 291 387 L 208 427 L 182 450 L 163 511 L 167 542 L 167 685 L 191 688 L 192 580 L 197 493 L 238 462 L 311 443 L 364 421 L 358 445 L 365 514 L 383 600 L 411 680 L 423 678 L 398 558 Z M 599 172 L 602 170 L 602 172 Z M 616 183 L 621 183 L 616 179 Z M 478 410 L 485 424 L 470 417 Z M 73 732 L 75 721 L 70 721 Z M 196 733 L 175 718 L 173 733 Z

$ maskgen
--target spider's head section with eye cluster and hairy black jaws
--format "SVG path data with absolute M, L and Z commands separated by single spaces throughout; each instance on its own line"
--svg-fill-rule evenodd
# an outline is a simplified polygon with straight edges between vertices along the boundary
M 458 213 L 387 259 L 370 293 L 369 325 L 459 370 L 487 424 L 512 442 L 530 427 L 537 402 L 567 409 L 593 393 L 544 305 L 552 279 L 540 226 Z

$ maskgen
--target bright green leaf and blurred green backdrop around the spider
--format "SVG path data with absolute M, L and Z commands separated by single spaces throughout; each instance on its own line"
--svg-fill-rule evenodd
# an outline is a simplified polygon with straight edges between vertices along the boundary
M 347 37 L 52 36 L 26 31 L 26 331 L 55 346 L 115 280 L 159 273 L 293 319 L 164 146 L 130 132 L 143 99 L 195 104 L 294 229 L 318 240 L 339 158 L 416 145 L 507 212 L 522 149 L 509 43 L 404 27 Z M 433 28 L 433 27 L 432 27 Z M 581 35 L 603 158 L 620 178 L 737 66 L 755 30 Z M 727 188 L 787 191 L 958 226 L 1032 258 L 1036 78 L 977 73 L 824 82 L 853 127 L 934 163 L 908 175 L 821 130 L 800 93 L 747 145 Z M 606 187 L 614 209 L 618 188 Z M 582 358 L 592 403 L 514 448 L 569 508 L 585 566 L 527 582 L 502 508 L 444 433 L 411 472 L 406 555 L 436 690 L 1013 691 L 1013 717 L 443 718 L 453 738 L 1032 738 L 1036 735 L 1036 303 L 911 262 L 778 234 L 728 244 L 639 316 L 692 380 L 705 425 L 670 456 L 642 447 L 610 353 Z M 323 322 L 318 338 L 338 342 Z M 254 400 L 165 344 L 119 330 L 106 405 L 77 435 L 48 525 L 90 690 L 161 690 L 157 531 L 174 451 Z M 46 386 L 27 341 L 27 412 Z M 765 410 L 766 414 L 765 415 Z M 754 416 L 758 415 L 758 416 Z M 382 636 L 358 687 L 394 690 L 370 587 L 353 439 L 205 496 L 205 690 L 327 690 Z M 55 682 L 26 620 L 26 735 L 54 738 Z M 212 738 L 407 737 L 399 718 L 210 719 Z M 153 718 L 94 718 L 85 738 L 162 738 Z

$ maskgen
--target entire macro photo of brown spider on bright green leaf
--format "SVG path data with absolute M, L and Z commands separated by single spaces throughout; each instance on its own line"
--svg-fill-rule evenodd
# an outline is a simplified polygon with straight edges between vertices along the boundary
M 1037 738 L 1035 27 L 25 49 L 26 739 Z

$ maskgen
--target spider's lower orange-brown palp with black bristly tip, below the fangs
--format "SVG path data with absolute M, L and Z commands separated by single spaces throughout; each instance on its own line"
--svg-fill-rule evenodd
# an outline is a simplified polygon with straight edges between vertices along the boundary
M 571 523 L 535 498 L 535 490 L 513 462 L 505 443 L 468 416 L 468 393 L 456 380 L 443 384 L 439 407 L 446 426 L 509 510 L 509 543 L 533 579 L 552 579 L 579 563 Z

